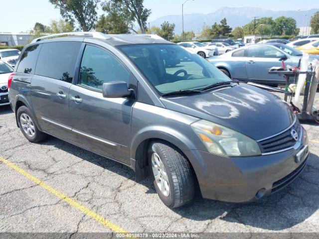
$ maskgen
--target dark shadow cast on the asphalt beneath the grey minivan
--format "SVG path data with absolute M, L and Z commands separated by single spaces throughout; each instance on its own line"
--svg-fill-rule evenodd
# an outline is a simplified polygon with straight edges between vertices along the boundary
M 134 180 L 133 170 L 65 141 L 48 137 L 41 144 L 53 145 L 111 172 Z M 140 182 L 156 193 L 151 178 Z M 304 172 L 282 191 L 254 203 L 234 204 L 206 200 L 197 194 L 194 200 L 173 212 L 193 221 L 220 220 L 263 230 L 280 231 L 304 222 L 319 209 L 319 157 L 310 154 Z M 147 195 L 146 195 L 147 197 Z M 256 230 L 257 231 L 257 230 Z

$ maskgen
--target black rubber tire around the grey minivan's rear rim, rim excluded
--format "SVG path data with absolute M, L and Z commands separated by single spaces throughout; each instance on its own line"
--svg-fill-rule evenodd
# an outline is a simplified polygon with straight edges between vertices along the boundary
M 30 136 L 28 135 L 23 127 L 22 127 L 22 123 L 21 123 L 21 115 L 22 114 L 25 114 L 27 115 L 31 120 L 32 120 L 32 123 L 33 123 L 33 127 L 34 127 L 34 135 L 33 136 Z M 36 124 L 34 123 L 34 119 L 32 117 L 32 114 L 30 112 L 30 110 L 25 107 L 25 106 L 21 106 L 18 108 L 17 112 L 16 112 L 16 119 L 17 119 L 17 122 L 18 122 L 18 125 L 19 125 L 19 128 L 21 130 L 21 132 L 23 133 L 23 135 L 26 137 L 27 140 L 29 140 L 30 142 L 32 143 L 37 143 L 37 142 L 40 142 L 41 140 L 45 139 L 47 134 L 41 132 L 38 127 L 36 126 Z

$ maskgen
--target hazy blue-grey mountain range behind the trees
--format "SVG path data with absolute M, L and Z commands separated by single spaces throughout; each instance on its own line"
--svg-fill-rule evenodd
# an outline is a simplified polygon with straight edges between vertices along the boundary
M 319 9 L 310 9 L 309 21 L 311 16 Z M 254 16 L 258 17 L 273 17 L 279 16 L 293 17 L 297 21 L 297 26 L 302 27 L 307 25 L 308 10 L 265 10 L 258 7 L 222 7 L 212 13 L 191 13 L 184 14 L 184 31 L 193 30 L 195 33 L 201 31 L 204 24 L 211 26 L 214 22 L 218 22 L 226 17 L 228 25 L 232 28 L 243 26 L 249 23 Z M 160 26 L 164 21 L 175 24 L 175 33 L 180 34 L 182 31 L 181 15 L 162 16 L 150 22 L 151 26 Z

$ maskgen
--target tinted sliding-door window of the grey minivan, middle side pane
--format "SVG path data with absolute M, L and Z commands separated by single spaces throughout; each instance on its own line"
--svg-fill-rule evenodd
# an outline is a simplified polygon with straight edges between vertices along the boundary
M 81 44 L 71 41 L 42 44 L 35 74 L 71 83 Z

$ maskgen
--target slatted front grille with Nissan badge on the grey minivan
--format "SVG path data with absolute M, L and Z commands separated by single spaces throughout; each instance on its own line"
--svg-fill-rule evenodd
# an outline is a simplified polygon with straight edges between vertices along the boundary
M 296 119 L 295 124 L 286 131 L 274 137 L 259 141 L 262 153 L 271 153 L 293 147 L 296 143 L 296 140 L 291 135 L 292 129 L 295 129 L 299 137 L 301 137 L 301 125 L 299 120 Z

